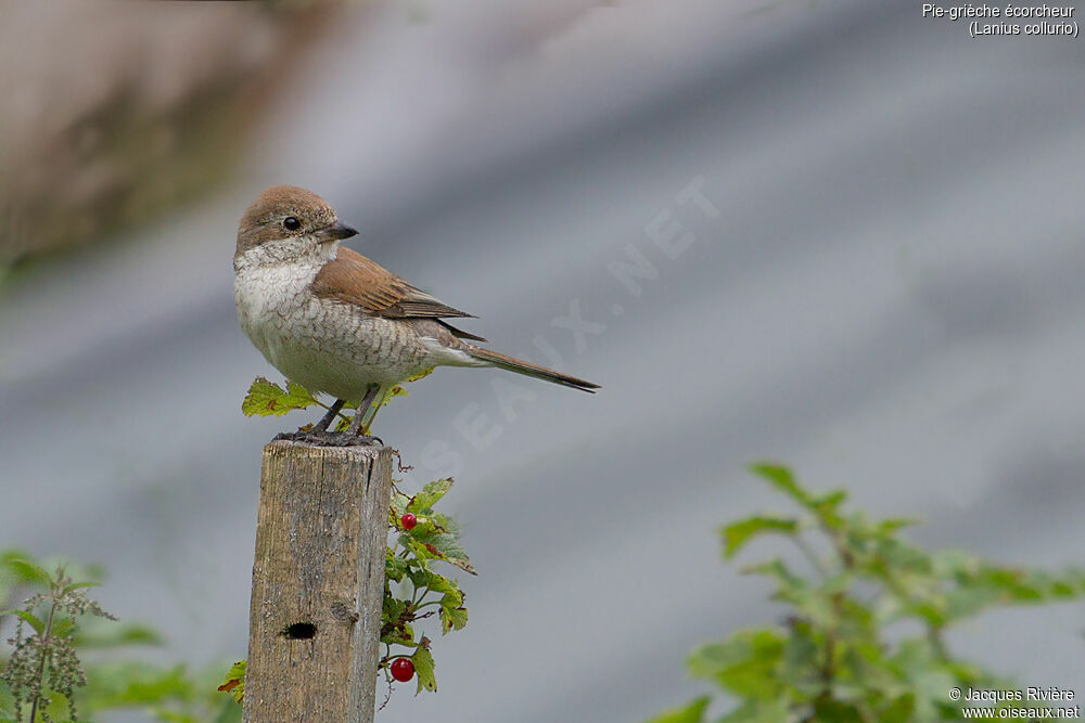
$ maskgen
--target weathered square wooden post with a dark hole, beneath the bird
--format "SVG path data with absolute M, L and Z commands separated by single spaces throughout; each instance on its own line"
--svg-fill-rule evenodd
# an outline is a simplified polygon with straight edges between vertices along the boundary
M 245 723 L 371 723 L 392 490 L 387 447 L 264 448 Z

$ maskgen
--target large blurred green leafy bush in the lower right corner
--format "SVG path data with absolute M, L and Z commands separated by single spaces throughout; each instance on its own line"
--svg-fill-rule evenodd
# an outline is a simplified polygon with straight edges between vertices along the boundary
M 815 494 L 787 467 L 760 464 L 752 472 L 800 513 L 754 515 L 720 527 L 724 557 L 733 558 L 757 538 L 779 535 L 794 544 L 813 574 L 784 557 L 742 568 L 767 577 L 771 599 L 789 610 L 780 624 L 740 630 L 689 656 L 691 676 L 739 700 L 719 723 L 959 720 L 952 688 L 1013 686 L 954 657 L 947 629 L 995 607 L 1085 595 L 1078 570 L 1051 573 L 960 551 L 928 552 L 901 537 L 911 520 L 847 512 L 844 490 Z M 917 625 L 920 634 L 908 635 Z M 650 723 L 702 723 L 711 703 L 711 696 L 701 696 Z

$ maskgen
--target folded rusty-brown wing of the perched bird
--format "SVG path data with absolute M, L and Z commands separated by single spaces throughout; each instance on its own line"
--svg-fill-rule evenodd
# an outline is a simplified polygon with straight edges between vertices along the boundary
M 349 248 L 340 248 L 335 260 L 324 264 L 317 273 L 312 292 L 385 319 L 474 318 L 414 288 L 381 264 Z

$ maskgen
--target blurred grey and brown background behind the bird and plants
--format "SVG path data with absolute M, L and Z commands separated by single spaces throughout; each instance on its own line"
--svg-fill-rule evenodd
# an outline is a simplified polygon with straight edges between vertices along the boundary
M 2 2 L 0 545 L 104 564 L 162 660 L 244 656 L 260 448 L 317 415 L 241 415 L 279 375 L 231 257 L 292 183 L 494 348 L 603 386 L 438 370 L 381 413 L 408 487 L 456 476 L 481 572 L 437 695 L 381 721 L 704 689 L 687 650 L 779 615 L 715 532 L 782 506 L 760 459 L 924 544 L 1080 561 L 1083 57 L 858 0 Z M 1083 623 L 950 644 L 1072 688 Z

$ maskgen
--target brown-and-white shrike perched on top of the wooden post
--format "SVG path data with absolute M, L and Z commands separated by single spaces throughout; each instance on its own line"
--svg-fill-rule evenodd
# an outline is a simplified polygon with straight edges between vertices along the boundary
M 347 431 L 368 430 L 374 400 L 435 366 L 497 366 L 583 391 L 599 385 L 477 346 L 481 336 L 447 319 L 471 317 L 340 242 L 357 231 L 317 194 L 266 190 L 241 218 L 233 296 L 241 327 L 288 379 L 335 398 L 314 427 L 323 431 L 345 402 Z

